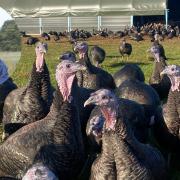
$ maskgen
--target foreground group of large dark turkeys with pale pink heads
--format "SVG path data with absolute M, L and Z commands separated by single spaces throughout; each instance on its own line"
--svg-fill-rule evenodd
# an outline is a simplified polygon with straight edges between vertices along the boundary
M 78 42 L 60 57 L 51 85 L 47 44 L 36 44 L 29 83 L 17 88 L 0 61 L 0 179 L 165 180 L 170 154 L 180 152 L 180 66 L 167 65 L 152 42 L 149 85 L 135 64 L 111 76 L 105 51 Z M 132 46 L 123 40 L 122 56 Z M 161 108 L 162 100 L 167 103 Z M 168 158 L 147 144 L 149 132 Z M 179 157 L 179 156 L 178 156 Z

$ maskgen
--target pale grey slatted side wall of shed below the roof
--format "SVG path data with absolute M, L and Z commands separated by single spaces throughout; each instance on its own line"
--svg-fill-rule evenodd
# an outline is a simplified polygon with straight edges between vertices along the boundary
M 41 34 L 49 31 L 70 31 L 78 28 L 88 31 L 108 28 L 112 31 L 131 25 L 131 16 L 94 16 L 94 17 L 56 17 L 56 18 L 16 18 L 20 31 L 27 34 Z

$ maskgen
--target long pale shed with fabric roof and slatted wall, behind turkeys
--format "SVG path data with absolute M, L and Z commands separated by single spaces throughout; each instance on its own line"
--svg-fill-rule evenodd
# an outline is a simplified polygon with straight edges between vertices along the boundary
M 108 28 L 112 31 L 133 25 L 133 16 L 161 15 L 167 18 L 166 0 L 101 1 L 1 1 L 1 6 L 15 18 L 21 31 L 30 34 L 70 31 L 74 28 Z M 167 20 L 167 19 L 166 19 Z M 135 22 L 135 23 L 136 23 Z

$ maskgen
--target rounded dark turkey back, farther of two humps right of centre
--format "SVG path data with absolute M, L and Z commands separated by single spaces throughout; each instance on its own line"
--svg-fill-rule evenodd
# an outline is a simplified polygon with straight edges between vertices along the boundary
M 139 80 L 144 82 L 144 73 L 136 64 L 126 64 L 113 75 L 116 86 L 119 87 L 127 79 Z

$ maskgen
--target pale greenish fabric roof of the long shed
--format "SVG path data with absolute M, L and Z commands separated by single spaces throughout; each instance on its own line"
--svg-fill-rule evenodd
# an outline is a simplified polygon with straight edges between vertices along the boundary
M 163 15 L 166 0 L 1 0 L 12 17 Z

